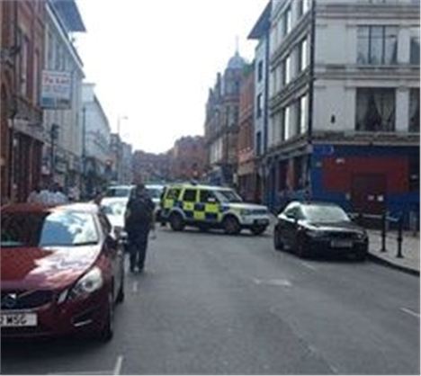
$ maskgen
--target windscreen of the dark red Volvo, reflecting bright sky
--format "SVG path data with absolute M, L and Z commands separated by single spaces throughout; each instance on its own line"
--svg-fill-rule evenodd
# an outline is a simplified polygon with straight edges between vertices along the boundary
M 85 246 L 97 244 L 94 216 L 84 212 L 58 211 L 2 213 L 2 247 Z

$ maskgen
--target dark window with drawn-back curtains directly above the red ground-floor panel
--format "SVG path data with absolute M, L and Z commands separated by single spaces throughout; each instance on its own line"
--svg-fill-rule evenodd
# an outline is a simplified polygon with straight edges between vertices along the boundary
M 357 89 L 356 130 L 395 130 L 395 90 Z

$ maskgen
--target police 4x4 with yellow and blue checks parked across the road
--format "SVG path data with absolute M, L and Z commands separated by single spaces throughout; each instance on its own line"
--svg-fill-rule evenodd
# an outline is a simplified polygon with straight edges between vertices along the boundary
M 202 230 L 223 228 L 227 234 L 238 234 L 246 228 L 260 235 L 269 226 L 269 210 L 243 202 L 229 188 L 174 184 L 167 186 L 163 194 L 161 221 L 168 222 L 175 231 L 193 226 Z

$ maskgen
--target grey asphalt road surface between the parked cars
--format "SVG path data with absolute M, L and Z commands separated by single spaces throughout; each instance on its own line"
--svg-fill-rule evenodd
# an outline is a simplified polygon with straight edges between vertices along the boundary
M 419 374 L 419 279 L 272 237 L 158 232 L 116 334 L 2 344 L 4 374 Z

